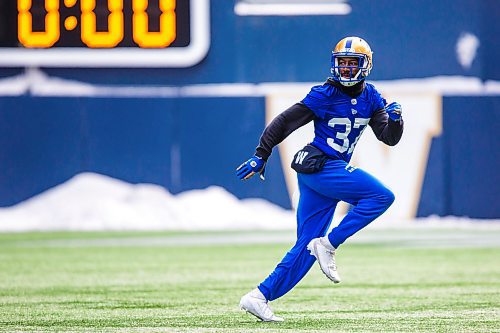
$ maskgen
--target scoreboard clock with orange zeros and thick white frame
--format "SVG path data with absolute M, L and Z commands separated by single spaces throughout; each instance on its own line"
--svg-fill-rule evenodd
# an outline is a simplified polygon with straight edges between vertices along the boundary
M 0 0 L 0 66 L 188 67 L 209 0 Z

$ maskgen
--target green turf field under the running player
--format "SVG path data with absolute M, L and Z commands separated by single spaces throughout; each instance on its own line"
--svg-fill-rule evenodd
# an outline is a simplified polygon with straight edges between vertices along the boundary
M 341 284 L 315 265 L 273 302 L 286 321 L 262 323 L 239 298 L 289 245 L 148 245 L 157 236 L 0 234 L 0 331 L 500 332 L 499 248 L 349 244 Z

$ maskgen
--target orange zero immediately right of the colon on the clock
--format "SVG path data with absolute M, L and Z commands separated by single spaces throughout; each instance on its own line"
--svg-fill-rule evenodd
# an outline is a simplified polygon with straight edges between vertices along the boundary
M 96 0 L 81 1 L 82 41 L 92 48 L 115 47 L 123 39 L 123 0 L 108 0 L 108 31 L 97 31 L 94 13 Z

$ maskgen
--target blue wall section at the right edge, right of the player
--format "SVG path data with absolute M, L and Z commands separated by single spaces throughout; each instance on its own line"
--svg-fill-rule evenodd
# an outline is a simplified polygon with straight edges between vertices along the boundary
M 418 216 L 500 216 L 499 96 L 443 98 L 443 132 L 432 142 Z

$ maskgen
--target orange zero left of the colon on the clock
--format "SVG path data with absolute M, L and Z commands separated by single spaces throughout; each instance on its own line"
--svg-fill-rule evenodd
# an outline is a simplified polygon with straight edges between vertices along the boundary
M 17 38 L 25 47 L 51 47 L 59 40 L 59 0 L 45 0 L 45 31 L 33 32 L 31 0 L 18 0 Z

